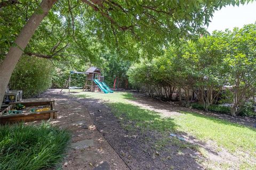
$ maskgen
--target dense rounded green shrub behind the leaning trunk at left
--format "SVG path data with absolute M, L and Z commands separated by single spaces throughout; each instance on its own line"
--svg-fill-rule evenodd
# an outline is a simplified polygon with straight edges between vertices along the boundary
M 23 90 L 23 97 L 36 96 L 51 87 L 53 65 L 45 58 L 22 56 L 9 83 L 11 90 Z

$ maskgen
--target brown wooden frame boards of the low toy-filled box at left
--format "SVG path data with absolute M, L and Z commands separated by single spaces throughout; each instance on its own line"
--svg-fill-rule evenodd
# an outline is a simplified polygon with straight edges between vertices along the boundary
M 25 112 L 20 114 L 9 114 L 3 115 L 5 111 L 11 111 L 16 104 L 22 104 L 27 107 L 35 107 L 35 106 L 48 106 L 51 109 L 49 111 L 42 112 Z M 29 121 L 37 121 L 37 120 L 46 120 L 49 118 L 57 118 L 57 111 L 54 110 L 54 101 L 26 101 L 26 102 L 15 102 L 10 103 L 8 107 L 6 107 L 0 113 L 0 124 L 6 123 L 15 123 L 15 122 L 29 122 Z

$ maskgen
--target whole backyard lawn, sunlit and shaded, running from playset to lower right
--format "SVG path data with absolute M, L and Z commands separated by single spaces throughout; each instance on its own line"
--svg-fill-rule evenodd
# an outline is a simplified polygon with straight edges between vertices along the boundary
M 199 151 L 207 160 L 201 163 L 208 168 L 256 168 L 255 128 L 198 114 L 189 109 L 188 111 L 178 109 L 166 116 L 162 114 L 161 109 L 154 111 L 154 109 L 147 109 L 148 106 L 143 107 L 131 92 L 114 92 L 114 94 L 79 92 L 75 96 L 100 99 L 111 108 L 116 117 L 121 119 L 124 129 L 161 133 L 162 138 L 156 141 L 158 150 L 171 142 L 174 145 Z M 170 137 L 170 133 L 180 135 L 185 141 Z M 218 153 L 217 157 L 220 156 L 227 161 L 216 162 L 212 158 L 214 157 L 212 152 Z M 234 160 L 230 161 L 230 159 Z

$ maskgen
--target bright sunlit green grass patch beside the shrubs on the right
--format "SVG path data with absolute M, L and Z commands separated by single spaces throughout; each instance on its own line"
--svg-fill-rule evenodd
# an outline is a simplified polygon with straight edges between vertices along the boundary
M 174 118 L 179 131 L 192 134 L 199 140 L 213 140 L 218 146 L 230 152 L 256 151 L 256 130 L 254 128 L 193 112 L 182 113 L 181 116 Z

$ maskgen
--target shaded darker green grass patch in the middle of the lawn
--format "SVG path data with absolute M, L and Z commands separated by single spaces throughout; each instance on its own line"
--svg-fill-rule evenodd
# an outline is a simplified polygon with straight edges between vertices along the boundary
M 188 142 L 181 142 L 179 139 L 170 138 L 170 132 L 177 132 L 178 126 L 173 118 L 164 118 L 159 113 L 141 109 L 132 104 L 109 103 L 116 117 L 122 118 L 121 122 L 126 130 L 157 131 L 162 134 L 162 138 L 155 141 L 155 148 L 162 150 L 167 144 L 175 145 L 180 148 L 198 149 L 196 145 Z

